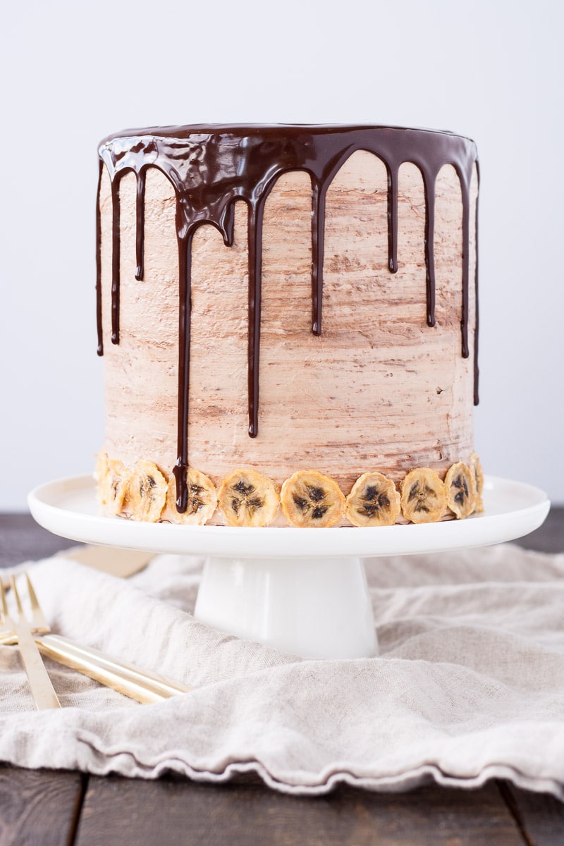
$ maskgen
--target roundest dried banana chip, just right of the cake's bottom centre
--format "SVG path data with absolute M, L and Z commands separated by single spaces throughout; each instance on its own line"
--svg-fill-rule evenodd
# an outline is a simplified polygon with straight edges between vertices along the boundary
M 345 504 L 341 489 L 317 470 L 298 470 L 282 485 L 282 511 L 299 528 L 325 528 L 338 523 Z

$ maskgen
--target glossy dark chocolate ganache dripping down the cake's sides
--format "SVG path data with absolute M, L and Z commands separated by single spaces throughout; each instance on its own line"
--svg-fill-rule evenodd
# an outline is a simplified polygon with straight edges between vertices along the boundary
M 282 173 L 303 170 L 311 179 L 312 267 L 311 329 L 322 331 L 323 252 L 326 192 L 331 180 L 353 152 L 364 150 L 386 166 L 388 266 L 397 272 L 397 186 L 399 168 L 412 162 L 423 176 L 425 197 L 426 319 L 435 326 L 435 180 L 450 164 L 460 180 L 463 205 L 463 279 L 461 348 L 468 358 L 468 286 L 470 183 L 477 162 L 474 142 L 446 132 L 400 129 L 378 125 L 315 126 L 194 124 L 184 127 L 128 129 L 101 142 L 99 154 L 112 182 L 112 343 L 119 343 L 119 182 L 124 173 L 137 179 L 137 233 L 135 277 L 143 277 L 145 173 L 157 168 L 170 180 L 177 197 L 176 229 L 179 267 L 178 318 L 178 459 L 177 508 L 187 507 L 188 398 L 190 361 L 190 269 L 194 232 L 211 223 L 227 246 L 233 244 L 234 202 L 249 207 L 249 436 L 258 434 L 260 298 L 262 223 L 266 200 Z M 101 174 L 101 166 L 100 166 Z M 101 176 L 100 176 L 101 179 Z M 98 354 L 101 332 L 101 223 L 100 181 L 96 217 L 96 316 Z M 477 277 L 475 280 L 477 287 Z M 478 402 L 477 338 L 474 339 L 474 402 Z

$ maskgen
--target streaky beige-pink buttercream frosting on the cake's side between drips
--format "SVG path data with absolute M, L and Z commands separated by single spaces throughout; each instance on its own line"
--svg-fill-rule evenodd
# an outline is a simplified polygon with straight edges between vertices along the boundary
M 477 178 L 471 186 L 470 279 L 475 268 Z M 111 343 L 112 197 L 101 181 L 101 278 L 106 387 L 105 451 L 167 478 L 177 459 L 178 246 L 176 196 L 146 173 L 145 274 L 135 280 L 132 173 L 120 182 L 120 342 Z M 260 324 L 259 434 L 249 437 L 247 206 L 235 206 L 234 244 L 211 226 L 194 235 L 189 464 L 220 486 L 236 467 L 280 487 L 315 468 L 343 494 L 369 471 L 399 483 L 428 467 L 444 478 L 473 443 L 475 299 L 470 355 L 461 355 L 462 201 L 457 173 L 435 186 L 436 324 L 425 311 L 425 205 L 419 169 L 399 170 L 398 271 L 387 257 L 384 164 L 357 151 L 326 197 L 323 332 L 311 332 L 311 183 L 283 174 L 266 201 Z M 166 514 L 164 516 L 167 516 Z M 169 518 L 173 515 L 168 514 Z M 218 511 L 213 522 L 224 522 Z M 284 523 L 279 516 L 277 522 Z

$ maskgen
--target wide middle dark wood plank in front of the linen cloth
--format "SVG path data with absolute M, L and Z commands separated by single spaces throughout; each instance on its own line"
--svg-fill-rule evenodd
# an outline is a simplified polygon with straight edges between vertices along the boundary
M 120 831 L 121 846 L 523 846 L 495 784 L 479 790 L 427 787 L 410 794 L 339 788 L 329 796 L 277 794 L 260 783 L 220 787 L 162 778 L 90 777 L 77 846 Z

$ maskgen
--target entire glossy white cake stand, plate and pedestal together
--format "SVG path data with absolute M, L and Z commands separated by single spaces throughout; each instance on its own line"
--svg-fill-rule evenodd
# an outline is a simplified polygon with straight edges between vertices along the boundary
M 42 485 L 28 502 L 40 525 L 74 541 L 203 556 L 197 619 L 320 658 L 377 653 L 363 558 L 511 541 L 542 525 L 550 508 L 539 488 L 494 476 L 485 479 L 484 514 L 374 529 L 238 529 L 101 517 L 90 475 Z

